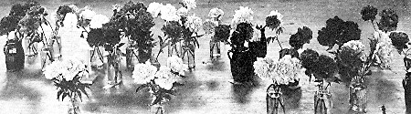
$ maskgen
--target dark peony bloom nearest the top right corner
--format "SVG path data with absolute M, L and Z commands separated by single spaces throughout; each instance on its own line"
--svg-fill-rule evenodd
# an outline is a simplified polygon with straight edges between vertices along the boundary
M 380 22 L 377 23 L 378 29 L 384 32 L 395 31 L 398 24 L 398 16 L 392 9 L 385 9 L 380 14 Z

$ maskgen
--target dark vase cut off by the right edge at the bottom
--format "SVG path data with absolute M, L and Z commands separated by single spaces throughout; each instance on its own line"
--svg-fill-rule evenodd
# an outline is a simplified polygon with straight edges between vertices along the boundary
M 411 73 L 406 73 L 406 78 L 403 79 L 404 97 L 406 100 L 406 113 L 411 113 Z

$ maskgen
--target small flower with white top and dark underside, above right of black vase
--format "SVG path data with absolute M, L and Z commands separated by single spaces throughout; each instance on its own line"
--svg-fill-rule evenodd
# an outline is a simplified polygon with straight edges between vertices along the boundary
M 282 15 L 277 10 L 269 12 L 269 16 L 266 17 L 266 25 L 271 29 L 278 28 L 281 22 Z

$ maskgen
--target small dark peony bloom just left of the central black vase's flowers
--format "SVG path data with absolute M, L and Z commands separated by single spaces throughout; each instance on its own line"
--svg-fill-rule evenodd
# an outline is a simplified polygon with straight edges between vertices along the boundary
M 214 37 L 217 41 L 228 42 L 228 37 L 230 36 L 230 26 L 219 25 L 216 26 Z

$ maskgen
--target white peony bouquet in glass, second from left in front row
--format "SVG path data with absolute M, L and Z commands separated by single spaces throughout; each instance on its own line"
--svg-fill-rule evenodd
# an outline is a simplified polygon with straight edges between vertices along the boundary
M 150 88 L 153 95 L 151 105 L 162 105 L 174 95 L 174 87 L 188 66 L 183 64 L 180 57 L 168 57 L 166 66 L 154 67 L 149 61 L 145 64 L 137 64 L 132 72 L 132 78 L 137 84 L 142 84 L 136 89 L 139 92 L 143 88 Z

